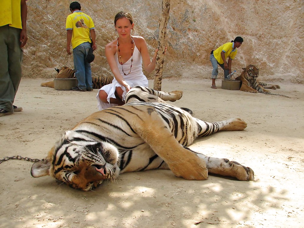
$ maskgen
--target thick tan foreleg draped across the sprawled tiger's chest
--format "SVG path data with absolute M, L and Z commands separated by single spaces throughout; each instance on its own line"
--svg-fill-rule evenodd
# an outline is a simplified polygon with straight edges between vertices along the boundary
M 208 177 L 205 161 L 178 143 L 153 107 L 127 107 L 130 112 L 128 120 L 136 134 L 167 163 L 176 176 L 186 180 L 205 180 Z M 131 113 L 137 113 L 136 116 L 140 118 L 132 118 Z

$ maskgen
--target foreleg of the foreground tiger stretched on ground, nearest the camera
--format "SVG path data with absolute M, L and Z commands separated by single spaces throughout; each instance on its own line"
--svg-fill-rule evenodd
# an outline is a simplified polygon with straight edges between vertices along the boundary
M 196 154 L 205 160 L 209 173 L 234 177 L 240 181 L 254 180 L 254 171 L 251 168 L 245 167 L 236 161 L 229 161 L 226 158 L 208 157 L 204 154 L 199 153 Z

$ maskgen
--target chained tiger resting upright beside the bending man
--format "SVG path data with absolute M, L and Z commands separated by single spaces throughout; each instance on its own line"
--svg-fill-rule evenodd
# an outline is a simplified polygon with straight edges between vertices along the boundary
M 266 84 L 264 82 L 257 81 L 257 77 L 259 76 L 259 68 L 254 65 L 248 65 L 246 68 L 242 68 L 243 72 L 240 76 L 235 78 L 235 80 L 239 80 L 242 82 L 241 91 L 251 92 L 251 93 L 269 93 L 267 89 L 279 89 L 279 85 L 271 85 Z

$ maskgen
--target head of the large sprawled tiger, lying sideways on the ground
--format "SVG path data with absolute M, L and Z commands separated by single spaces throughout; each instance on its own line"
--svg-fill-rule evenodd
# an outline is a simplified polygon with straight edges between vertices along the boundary
M 97 142 L 83 130 L 67 131 L 48 156 L 35 162 L 33 177 L 53 176 L 72 188 L 88 191 L 119 174 L 118 150 L 108 142 Z

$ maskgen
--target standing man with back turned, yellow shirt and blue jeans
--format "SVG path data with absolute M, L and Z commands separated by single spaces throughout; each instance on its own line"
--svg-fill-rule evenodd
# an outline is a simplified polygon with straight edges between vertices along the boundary
M 67 54 L 71 54 L 72 43 L 75 75 L 78 80 L 78 87 L 73 87 L 72 90 L 92 91 L 91 64 L 86 57 L 91 45 L 93 50 L 96 50 L 94 23 L 90 16 L 81 11 L 81 5 L 78 2 L 70 4 L 70 11 L 72 14 L 67 16 L 66 21 Z

